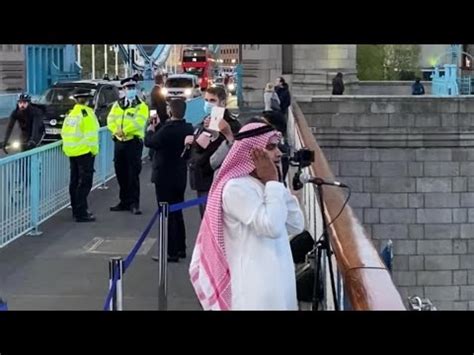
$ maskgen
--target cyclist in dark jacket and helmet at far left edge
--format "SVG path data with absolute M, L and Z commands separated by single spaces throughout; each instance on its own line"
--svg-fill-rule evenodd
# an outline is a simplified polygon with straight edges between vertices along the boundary
M 22 150 L 36 147 L 44 136 L 43 118 L 43 112 L 31 104 L 30 95 L 19 95 L 17 106 L 10 114 L 10 121 L 8 122 L 3 143 L 4 147 L 8 145 L 8 140 L 16 122 L 18 122 L 21 129 Z

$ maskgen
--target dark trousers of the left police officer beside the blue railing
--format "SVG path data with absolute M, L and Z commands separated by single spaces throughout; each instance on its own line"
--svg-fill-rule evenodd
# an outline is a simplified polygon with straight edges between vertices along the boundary
M 69 195 L 74 217 L 87 217 L 87 196 L 92 189 L 94 159 L 91 153 L 70 157 Z

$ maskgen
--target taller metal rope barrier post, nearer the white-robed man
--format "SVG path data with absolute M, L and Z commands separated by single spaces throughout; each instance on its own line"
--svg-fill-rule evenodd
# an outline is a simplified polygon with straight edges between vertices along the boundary
M 168 213 L 167 202 L 159 203 L 158 221 L 158 310 L 168 307 Z

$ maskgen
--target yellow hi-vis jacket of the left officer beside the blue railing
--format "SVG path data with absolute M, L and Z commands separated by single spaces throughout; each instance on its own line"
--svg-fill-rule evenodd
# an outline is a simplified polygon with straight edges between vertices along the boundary
M 99 122 L 94 111 L 76 104 L 68 113 L 61 129 L 63 151 L 68 157 L 99 153 Z

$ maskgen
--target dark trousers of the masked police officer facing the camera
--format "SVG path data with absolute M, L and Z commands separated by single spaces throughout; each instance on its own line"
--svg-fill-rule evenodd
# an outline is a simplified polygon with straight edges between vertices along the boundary
M 120 187 L 120 204 L 126 208 L 140 207 L 140 172 L 142 170 L 143 140 L 115 139 L 114 166 Z

